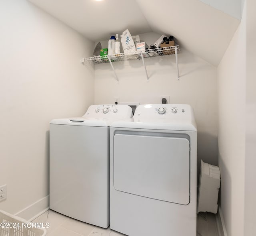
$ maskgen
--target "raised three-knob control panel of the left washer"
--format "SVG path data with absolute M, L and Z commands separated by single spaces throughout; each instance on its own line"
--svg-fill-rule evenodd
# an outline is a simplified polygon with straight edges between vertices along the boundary
M 128 105 L 104 104 L 92 105 L 83 117 L 86 118 L 132 118 L 132 108 Z

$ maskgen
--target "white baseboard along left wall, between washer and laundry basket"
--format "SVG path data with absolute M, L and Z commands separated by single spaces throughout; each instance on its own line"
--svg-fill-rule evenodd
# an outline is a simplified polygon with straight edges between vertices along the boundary
M 32 221 L 36 217 L 40 216 L 46 210 L 49 209 L 49 195 L 46 197 L 43 197 L 42 199 L 36 201 L 35 203 L 31 204 L 30 206 L 20 210 L 15 216 L 19 216 L 21 218 L 24 218 L 25 220 Z

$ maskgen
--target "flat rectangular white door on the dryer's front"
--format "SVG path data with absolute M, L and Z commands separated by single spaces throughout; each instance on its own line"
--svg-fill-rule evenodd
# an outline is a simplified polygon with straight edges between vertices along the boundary
M 115 134 L 114 188 L 142 197 L 188 205 L 189 140 Z

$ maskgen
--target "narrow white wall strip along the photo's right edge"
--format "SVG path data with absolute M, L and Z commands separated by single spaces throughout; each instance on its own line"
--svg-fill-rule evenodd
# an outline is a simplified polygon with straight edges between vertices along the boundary
M 245 236 L 256 232 L 256 2 L 247 0 L 246 19 L 246 158 L 245 158 Z

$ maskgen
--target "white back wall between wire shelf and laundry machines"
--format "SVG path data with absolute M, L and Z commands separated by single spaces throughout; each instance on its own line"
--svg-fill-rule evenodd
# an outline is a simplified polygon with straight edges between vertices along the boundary
M 150 45 L 160 36 L 146 33 L 140 35 L 140 41 Z M 169 95 L 170 103 L 190 104 L 198 126 L 198 163 L 203 159 L 216 165 L 216 67 L 182 48 L 178 61 L 180 80 L 177 80 L 174 55 L 145 58 L 149 82 L 141 60 L 113 63 L 119 83 L 109 63 L 96 65 L 95 104 L 113 104 L 116 96 L 119 102 L 161 103 L 162 95 Z

